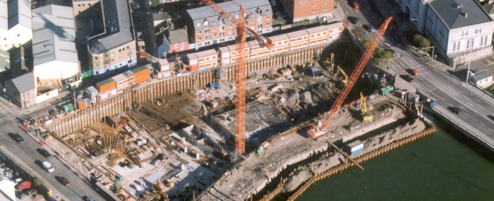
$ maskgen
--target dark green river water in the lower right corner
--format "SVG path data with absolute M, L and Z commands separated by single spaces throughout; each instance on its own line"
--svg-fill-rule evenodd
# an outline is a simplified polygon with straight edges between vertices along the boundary
M 308 200 L 494 200 L 494 153 L 445 123 L 411 142 L 311 185 Z

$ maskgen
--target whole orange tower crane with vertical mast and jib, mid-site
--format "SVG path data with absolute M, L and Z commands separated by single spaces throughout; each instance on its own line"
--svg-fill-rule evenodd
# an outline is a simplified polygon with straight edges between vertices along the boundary
M 219 15 L 227 18 L 230 22 L 236 24 L 236 66 L 235 66 L 235 150 L 239 154 L 246 152 L 246 34 L 253 37 L 259 42 L 260 47 L 272 47 L 272 41 L 259 35 L 254 30 L 245 26 L 245 9 L 240 6 L 239 17 L 228 13 L 211 0 L 200 0 L 210 6 Z

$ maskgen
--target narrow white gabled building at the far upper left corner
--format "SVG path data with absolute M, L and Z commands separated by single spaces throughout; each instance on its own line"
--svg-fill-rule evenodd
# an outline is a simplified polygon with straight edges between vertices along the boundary
M 31 1 L 8 1 L 8 49 L 32 39 Z

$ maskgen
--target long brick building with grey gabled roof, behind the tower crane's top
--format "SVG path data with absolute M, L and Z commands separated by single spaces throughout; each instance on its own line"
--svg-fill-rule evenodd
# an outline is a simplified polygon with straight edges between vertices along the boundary
M 246 28 L 258 33 L 272 32 L 272 8 L 267 0 L 236 0 L 217 4 L 238 18 L 240 6 L 246 10 Z M 189 49 L 201 49 L 212 44 L 232 41 L 236 25 L 209 6 L 187 10 L 189 35 L 193 38 Z

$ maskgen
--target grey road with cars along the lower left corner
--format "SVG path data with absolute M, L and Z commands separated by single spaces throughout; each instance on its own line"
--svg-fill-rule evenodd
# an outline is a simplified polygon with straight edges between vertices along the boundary
M 61 164 L 58 159 L 52 157 L 51 159 L 45 159 L 37 151 L 42 148 L 35 140 L 24 133 L 23 130 L 18 128 L 18 116 L 19 114 L 13 113 L 4 104 L 0 103 L 0 145 L 6 147 L 6 149 L 21 159 L 28 167 L 44 178 L 44 180 L 52 185 L 56 191 L 59 191 L 68 200 L 83 200 L 83 197 L 90 196 L 96 200 L 104 200 L 98 195 L 95 190 L 92 190 L 90 186 L 84 183 L 76 174 L 69 170 L 66 166 Z M 23 144 L 18 144 L 11 138 L 11 134 L 19 134 L 25 140 Z M 42 169 L 42 162 L 49 162 L 54 166 L 55 171 L 48 173 Z M 64 176 L 71 181 L 71 186 L 64 186 L 59 181 L 56 181 L 56 176 Z

